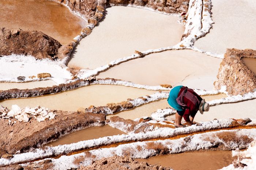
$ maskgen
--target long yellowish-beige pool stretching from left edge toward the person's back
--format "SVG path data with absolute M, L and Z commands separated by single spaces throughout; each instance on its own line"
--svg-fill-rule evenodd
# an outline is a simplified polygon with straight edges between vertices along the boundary
M 76 111 L 79 107 L 105 106 L 107 103 L 122 102 L 128 98 L 135 99 L 155 92 L 125 86 L 91 85 L 54 95 L 4 100 L 0 104 L 8 108 L 13 104 L 20 107 L 40 105 L 50 109 Z

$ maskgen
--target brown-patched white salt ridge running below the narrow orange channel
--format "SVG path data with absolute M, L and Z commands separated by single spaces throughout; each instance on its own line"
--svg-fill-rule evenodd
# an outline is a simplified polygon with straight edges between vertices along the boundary
M 92 163 L 92 161 L 113 157 L 115 155 L 124 157 L 128 152 L 131 152 L 131 157 L 135 158 L 148 158 L 156 155 L 156 151 L 154 149 L 150 149 L 147 147 L 147 143 L 154 142 L 158 145 L 163 145 L 169 149 L 170 154 L 180 153 L 185 151 L 194 151 L 199 149 L 210 149 L 219 144 L 223 144 L 228 149 L 236 149 L 236 148 L 245 148 L 248 147 L 246 142 L 235 142 L 235 141 L 223 141 L 221 138 L 217 137 L 217 134 L 222 132 L 234 132 L 236 136 L 239 138 L 242 135 L 246 135 L 249 138 L 256 139 L 256 129 L 241 129 L 241 130 L 220 130 L 217 132 L 208 132 L 204 134 L 195 134 L 192 136 L 188 136 L 185 138 L 175 139 L 175 140 L 159 140 L 159 141 L 145 141 L 145 142 L 134 142 L 123 145 L 118 145 L 117 147 L 111 148 L 102 148 L 97 150 L 89 151 L 91 155 L 95 155 L 95 158 L 86 157 L 85 153 L 74 154 L 70 156 L 61 156 L 58 159 L 47 158 L 52 161 L 54 164 L 54 169 L 72 169 L 78 168 L 80 165 L 88 166 Z M 208 140 L 210 138 L 212 140 Z M 184 145 L 185 144 L 185 145 Z M 138 147 L 141 150 L 138 150 Z M 84 161 L 81 162 L 80 165 L 74 164 L 74 159 L 79 158 L 80 156 L 85 157 Z M 41 160 L 45 161 L 47 159 Z M 36 161 L 35 163 L 41 162 Z M 27 166 L 27 164 L 22 164 L 22 166 Z

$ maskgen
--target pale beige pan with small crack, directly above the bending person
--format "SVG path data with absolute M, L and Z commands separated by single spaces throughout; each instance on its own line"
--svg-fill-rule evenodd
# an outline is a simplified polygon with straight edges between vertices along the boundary
M 221 59 L 193 50 L 171 50 L 121 63 L 97 78 L 116 78 L 146 85 L 171 84 L 212 90 Z

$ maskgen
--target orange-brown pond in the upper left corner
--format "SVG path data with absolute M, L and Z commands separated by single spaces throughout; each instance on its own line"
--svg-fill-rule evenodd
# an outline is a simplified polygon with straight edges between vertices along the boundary
M 45 0 L 1 0 L 1 27 L 41 31 L 70 43 L 87 22 L 64 5 Z

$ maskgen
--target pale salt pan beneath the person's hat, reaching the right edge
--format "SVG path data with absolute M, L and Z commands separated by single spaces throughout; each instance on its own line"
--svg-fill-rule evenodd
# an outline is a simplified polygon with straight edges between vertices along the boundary
M 221 104 L 217 106 L 211 106 L 208 112 L 200 114 L 197 112 L 195 116 L 195 122 L 208 121 L 213 119 L 230 119 L 230 118 L 251 118 L 255 119 L 256 114 L 256 99 L 247 100 L 238 103 Z M 167 120 L 175 119 L 175 115 L 167 117 Z

